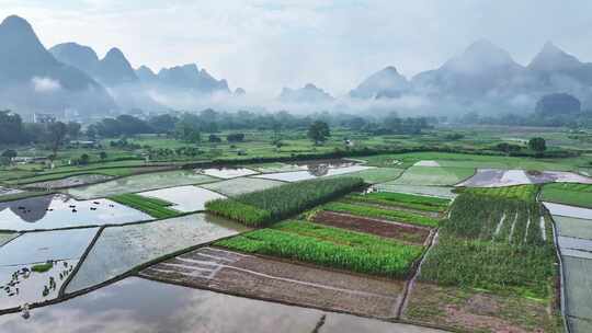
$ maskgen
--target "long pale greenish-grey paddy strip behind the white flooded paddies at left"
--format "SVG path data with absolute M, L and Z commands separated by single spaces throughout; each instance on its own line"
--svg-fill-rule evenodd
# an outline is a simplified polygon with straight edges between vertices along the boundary
M 215 181 L 216 179 L 196 173 L 195 171 L 178 170 L 126 176 L 105 183 L 69 188 L 67 193 L 77 198 L 91 199 L 172 186 L 204 184 Z

